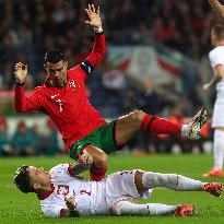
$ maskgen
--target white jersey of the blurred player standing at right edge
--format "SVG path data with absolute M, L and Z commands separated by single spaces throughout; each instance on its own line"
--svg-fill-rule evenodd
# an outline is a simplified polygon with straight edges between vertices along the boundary
M 216 66 L 222 64 L 224 67 L 224 46 L 217 46 L 209 54 L 210 63 L 213 70 Z M 217 99 L 220 103 L 224 103 L 224 79 L 216 84 Z

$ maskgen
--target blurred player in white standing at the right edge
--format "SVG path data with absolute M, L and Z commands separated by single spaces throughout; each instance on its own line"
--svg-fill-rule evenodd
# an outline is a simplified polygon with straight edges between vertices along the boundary
M 203 85 L 204 91 L 209 91 L 216 85 L 216 101 L 214 104 L 212 127 L 214 128 L 214 167 L 203 177 L 223 176 L 224 157 L 224 25 L 215 24 L 211 30 L 212 45 L 215 47 L 209 54 L 213 76 L 210 82 Z

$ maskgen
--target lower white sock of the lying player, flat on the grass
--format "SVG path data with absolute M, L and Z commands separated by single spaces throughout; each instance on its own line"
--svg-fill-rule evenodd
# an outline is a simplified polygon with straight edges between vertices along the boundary
M 117 215 L 164 215 L 176 211 L 178 205 L 161 203 L 135 204 L 130 201 L 119 201 L 116 204 Z

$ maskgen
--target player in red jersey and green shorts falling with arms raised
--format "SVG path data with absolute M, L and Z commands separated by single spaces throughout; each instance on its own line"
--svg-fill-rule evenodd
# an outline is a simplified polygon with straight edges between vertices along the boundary
M 80 64 L 67 70 L 63 52 L 51 50 L 45 56 L 48 79 L 25 95 L 27 66 L 15 64 L 15 109 L 19 113 L 42 110 L 49 115 L 60 131 L 70 156 L 91 167 L 91 177 L 101 180 L 107 170 L 107 154 L 119 150 L 141 128 L 149 133 L 179 134 L 190 139 L 200 137 L 207 120 L 202 109 L 189 125 L 176 125 L 141 110 L 107 123 L 90 104 L 85 92 L 85 79 L 92 73 L 106 52 L 99 8 L 89 4 L 85 10 L 94 27 L 95 43 L 92 52 Z M 93 162 L 93 164 L 92 164 Z

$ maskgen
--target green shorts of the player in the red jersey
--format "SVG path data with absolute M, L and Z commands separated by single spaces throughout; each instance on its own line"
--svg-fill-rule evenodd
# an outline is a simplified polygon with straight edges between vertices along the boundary
M 106 154 L 115 152 L 115 126 L 116 120 L 109 122 L 106 126 L 102 126 L 85 138 L 74 142 L 70 148 L 70 157 L 78 161 L 82 150 L 87 144 L 93 144 L 94 146 L 103 150 Z

